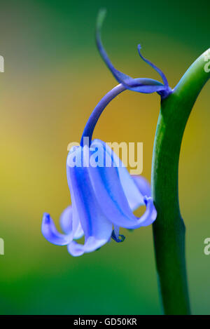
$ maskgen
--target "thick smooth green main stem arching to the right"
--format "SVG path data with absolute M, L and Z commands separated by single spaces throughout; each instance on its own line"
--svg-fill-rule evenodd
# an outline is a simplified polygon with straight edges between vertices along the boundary
M 209 49 L 210 53 L 210 49 Z M 205 54 L 162 100 L 153 150 L 152 189 L 157 220 L 153 224 L 158 281 L 165 314 L 190 314 L 185 260 L 185 225 L 179 210 L 179 154 L 195 100 L 210 72 Z

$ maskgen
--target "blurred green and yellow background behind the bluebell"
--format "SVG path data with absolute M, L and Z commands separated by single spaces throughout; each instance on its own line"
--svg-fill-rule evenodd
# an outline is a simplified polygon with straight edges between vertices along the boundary
M 76 258 L 41 235 L 43 212 L 58 224 L 70 203 L 66 147 L 116 85 L 94 43 L 102 7 L 104 45 L 131 76 L 160 79 L 140 60 L 139 42 L 172 87 L 209 48 L 209 1 L 1 1 L 1 314 L 161 313 L 151 227 L 124 231 L 124 243 Z M 188 121 L 179 173 L 194 314 L 210 314 L 210 255 L 203 251 L 210 236 L 209 87 Z M 94 132 L 106 142 L 144 142 L 148 180 L 159 108 L 158 95 L 127 91 Z

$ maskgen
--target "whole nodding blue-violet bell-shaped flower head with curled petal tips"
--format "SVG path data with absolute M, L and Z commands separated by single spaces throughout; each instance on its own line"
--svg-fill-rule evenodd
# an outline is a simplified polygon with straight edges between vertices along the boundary
M 119 234 L 120 227 L 137 229 L 155 220 L 148 182 L 131 176 L 105 142 L 93 140 L 90 146 L 73 147 L 66 171 L 72 206 L 60 218 L 64 234 L 57 231 L 48 213 L 43 215 L 42 233 L 51 243 L 67 246 L 71 255 L 90 253 L 111 238 L 122 242 L 125 237 Z M 146 206 L 146 211 L 138 218 L 133 211 L 139 206 Z M 85 243 L 78 243 L 83 234 Z

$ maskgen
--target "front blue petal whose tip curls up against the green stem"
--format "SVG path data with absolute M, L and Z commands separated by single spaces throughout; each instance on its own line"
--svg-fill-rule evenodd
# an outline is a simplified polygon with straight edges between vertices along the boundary
M 106 152 L 103 143 L 99 141 L 93 142 L 98 148 L 98 152 Z M 92 143 L 92 144 L 93 144 Z M 91 145 L 92 146 L 92 145 Z M 108 152 L 106 153 L 106 155 Z M 101 155 L 102 156 L 102 155 Z M 109 154 L 107 156 L 110 156 Z M 156 217 L 156 210 L 153 206 L 152 199 L 144 199 L 146 212 L 140 218 L 137 218 L 132 213 L 129 206 L 120 177 L 118 168 L 114 167 L 113 159 L 110 157 L 112 167 L 96 167 L 90 166 L 87 168 L 92 186 L 94 187 L 95 195 L 100 202 L 101 208 L 106 213 L 106 217 L 112 220 L 113 224 L 125 228 L 137 228 L 144 226 L 147 223 L 153 222 Z

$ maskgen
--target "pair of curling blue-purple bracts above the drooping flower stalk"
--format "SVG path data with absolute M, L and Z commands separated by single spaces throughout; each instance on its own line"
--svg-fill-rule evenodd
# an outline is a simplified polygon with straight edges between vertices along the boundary
M 161 69 L 159 69 L 156 65 L 154 65 L 150 60 L 147 60 L 144 58 L 144 56 L 141 54 L 141 45 L 138 45 L 138 52 L 139 56 L 142 60 L 144 60 L 148 65 L 153 67 L 158 74 L 160 74 L 162 78 L 162 82 L 156 81 L 154 79 L 144 79 L 144 78 L 138 78 L 133 79 L 131 76 L 128 76 L 127 74 L 124 74 L 123 72 L 118 71 L 116 69 L 111 60 L 109 59 L 109 56 L 107 55 L 103 45 L 102 45 L 102 39 L 101 39 L 101 29 L 102 24 L 104 22 L 104 18 L 106 16 L 106 9 L 102 9 L 99 11 L 99 15 L 97 17 L 97 32 L 96 32 L 96 42 L 97 47 L 99 50 L 100 55 L 102 56 L 102 59 L 106 63 L 107 67 L 111 70 L 111 73 L 116 78 L 118 83 L 122 83 L 123 86 L 125 86 L 126 89 L 136 91 L 138 93 L 155 93 L 157 92 L 161 98 L 167 98 L 167 96 L 172 93 L 172 89 L 169 87 L 169 83 L 167 81 L 167 78 L 165 74 L 162 72 Z

